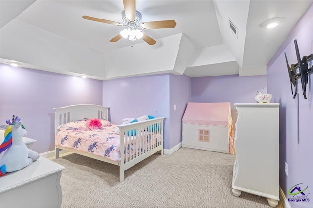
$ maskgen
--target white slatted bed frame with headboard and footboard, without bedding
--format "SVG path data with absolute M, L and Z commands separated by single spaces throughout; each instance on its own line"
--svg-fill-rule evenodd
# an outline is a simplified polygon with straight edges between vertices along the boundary
M 103 107 L 99 105 L 71 105 L 62 108 L 53 108 L 55 110 L 55 135 L 59 132 L 57 127 L 61 124 L 77 121 L 84 118 L 102 118 L 108 120 L 108 107 Z M 84 155 L 93 159 L 101 160 L 107 163 L 111 163 L 119 166 L 119 180 L 120 182 L 124 181 L 124 171 L 131 168 L 135 164 L 140 161 L 146 159 L 147 157 L 153 155 L 154 153 L 160 151 L 161 155 L 163 155 L 163 120 L 165 117 L 155 118 L 147 121 L 139 121 L 131 124 L 119 125 L 120 129 L 120 156 L 121 161 L 113 161 L 106 157 L 97 156 L 94 154 L 89 154 L 83 151 L 78 151 L 72 148 L 66 148 L 61 146 L 55 146 L 55 158 L 59 158 L 59 151 L 65 150 L 70 151 L 76 154 Z M 151 139 L 146 142 L 146 137 L 149 134 L 149 131 L 145 131 L 150 129 L 152 132 Z M 127 132 L 135 131 L 136 135 L 130 135 L 129 141 L 127 140 Z M 138 133 L 142 132 L 142 133 Z M 132 138 L 131 138 L 132 137 Z M 156 142 L 157 139 L 157 142 Z M 130 141 L 133 140 L 133 146 L 131 146 Z M 144 143 L 143 143 L 144 142 Z M 135 145 L 134 145 L 135 143 Z M 133 150 L 137 150 L 141 145 L 143 145 L 143 149 L 146 151 L 139 151 L 138 155 L 135 155 L 135 151 L 133 153 L 128 153 L 125 151 L 124 158 L 124 147 L 130 145 Z M 130 147 L 130 148 L 131 148 Z

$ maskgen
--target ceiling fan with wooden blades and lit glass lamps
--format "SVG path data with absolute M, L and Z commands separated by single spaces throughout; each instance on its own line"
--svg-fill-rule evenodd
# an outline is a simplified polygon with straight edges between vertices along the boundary
M 124 11 L 122 12 L 122 19 L 124 24 L 110 21 L 106 19 L 99 19 L 90 16 L 83 16 L 84 19 L 123 26 L 126 27 L 119 34 L 110 40 L 110 42 L 117 42 L 121 38 L 128 38 L 131 41 L 142 38 L 149 45 L 154 45 L 156 41 L 148 36 L 142 29 L 158 29 L 158 28 L 174 28 L 176 22 L 174 20 L 164 20 L 164 21 L 151 21 L 151 22 L 141 22 L 141 13 L 136 11 L 136 1 L 135 0 L 123 0 Z

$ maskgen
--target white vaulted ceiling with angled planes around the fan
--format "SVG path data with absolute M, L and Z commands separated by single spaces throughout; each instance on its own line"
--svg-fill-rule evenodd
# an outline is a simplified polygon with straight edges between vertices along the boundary
M 82 18 L 122 22 L 122 0 L 0 0 L 0 61 L 100 80 L 165 72 L 264 75 L 312 1 L 137 0 L 142 22 L 177 23 L 175 28 L 145 30 L 156 40 L 150 46 L 123 38 L 111 43 L 124 28 Z M 286 21 L 273 29 L 259 27 L 274 17 Z M 238 39 L 229 19 L 238 27 Z

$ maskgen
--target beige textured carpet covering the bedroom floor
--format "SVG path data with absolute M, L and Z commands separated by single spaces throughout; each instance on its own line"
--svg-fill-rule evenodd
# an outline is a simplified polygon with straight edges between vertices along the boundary
M 53 160 L 65 166 L 61 208 L 270 208 L 266 198 L 231 192 L 235 155 L 180 148 L 155 154 L 125 171 L 70 154 Z

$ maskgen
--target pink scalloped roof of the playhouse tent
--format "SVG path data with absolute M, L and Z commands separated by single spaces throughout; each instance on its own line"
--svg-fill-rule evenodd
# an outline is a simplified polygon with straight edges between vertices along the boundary
M 184 123 L 227 126 L 232 123 L 230 103 L 188 103 L 182 118 Z

